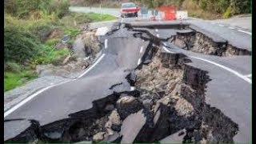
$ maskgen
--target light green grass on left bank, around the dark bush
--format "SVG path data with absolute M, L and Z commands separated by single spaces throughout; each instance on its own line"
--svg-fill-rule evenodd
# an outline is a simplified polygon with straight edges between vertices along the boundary
M 81 33 L 79 26 L 88 22 L 102 22 L 116 19 L 109 14 L 94 13 L 69 13 L 62 18 L 57 18 L 54 14 L 47 15 L 40 12 L 37 14 L 38 18 L 31 16 L 31 18 L 26 19 L 16 18 L 10 14 L 5 14 L 5 29 L 8 27 L 17 27 L 18 30 L 26 30 L 28 33 L 34 34 L 39 40 L 37 45 L 39 50 L 33 55 L 34 58 L 30 58 L 29 66 L 24 66 L 22 61 L 13 62 L 12 58 L 5 61 L 5 66 L 7 67 L 4 72 L 5 91 L 22 86 L 27 81 L 37 78 L 38 75 L 35 72 L 35 67 L 37 65 L 61 64 L 63 58 L 66 58 L 66 56 L 70 54 L 70 50 L 66 47 L 62 46 L 54 48 L 54 46 L 60 42 L 63 35 L 69 34 L 70 42 L 68 43 L 72 44 L 76 36 Z M 58 32 L 53 35 L 52 32 L 54 30 Z M 49 34 L 53 36 L 50 37 Z M 31 39 L 31 41 L 34 40 Z M 18 46 L 23 46 L 22 42 L 23 41 L 21 41 Z M 15 42 L 12 43 L 14 43 L 13 46 L 16 46 Z M 15 56 L 14 54 L 10 55 Z M 10 62 L 10 60 L 12 62 Z

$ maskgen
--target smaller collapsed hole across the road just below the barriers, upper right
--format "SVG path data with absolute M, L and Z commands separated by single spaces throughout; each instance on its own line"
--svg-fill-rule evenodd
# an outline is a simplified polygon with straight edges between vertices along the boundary
M 187 22 L 172 22 L 171 24 L 168 22 L 154 24 L 134 22 L 126 23 L 126 26 L 193 52 L 222 57 L 251 55 L 251 51 L 248 50 L 250 48 L 233 46 L 221 36 Z

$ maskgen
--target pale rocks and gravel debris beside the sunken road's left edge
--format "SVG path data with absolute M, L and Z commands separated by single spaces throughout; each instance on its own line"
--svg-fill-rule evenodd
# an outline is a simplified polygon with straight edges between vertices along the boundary
M 73 54 L 61 58 L 59 62 L 36 66 L 39 77 L 61 76 L 62 78 L 76 78 L 77 73 L 86 69 L 99 54 L 101 47 L 95 36 L 95 30 L 83 31 L 78 35 L 72 48 Z

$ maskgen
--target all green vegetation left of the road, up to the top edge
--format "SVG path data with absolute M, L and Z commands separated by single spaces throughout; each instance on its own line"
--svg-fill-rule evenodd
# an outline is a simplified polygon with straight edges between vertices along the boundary
M 37 65 L 61 63 L 87 22 L 114 19 L 110 15 L 70 13 L 69 6 L 69 0 L 4 1 L 5 91 L 37 78 Z M 66 34 L 70 41 L 58 46 Z

